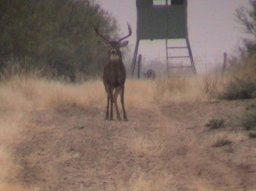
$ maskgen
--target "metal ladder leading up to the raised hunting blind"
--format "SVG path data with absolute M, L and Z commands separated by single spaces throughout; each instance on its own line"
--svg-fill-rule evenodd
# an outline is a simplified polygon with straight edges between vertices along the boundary
M 166 46 L 166 65 L 167 65 L 167 75 L 169 76 L 169 70 L 171 68 L 184 68 L 184 67 L 190 67 L 192 69 L 192 72 L 194 73 L 194 75 L 196 75 L 196 67 L 194 64 L 194 59 L 192 56 L 192 51 L 190 48 L 190 43 L 188 41 L 188 38 L 185 39 L 186 40 L 186 46 L 169 46 L 168 45 L 168 39 L 165 39 L 165 46 Z M 171 56 L 169 55 L 170 52 L 169 50 L 175 50 L 175 49 L 187 49 L 186 55 L 179 55 L 179 56 Z M 175 59 L 181 59 L 181 58 L 189 58 L 190 59 L 190 65 L 173 65 L 173 63 L 171 63 L 171 60 L 175 60 Z

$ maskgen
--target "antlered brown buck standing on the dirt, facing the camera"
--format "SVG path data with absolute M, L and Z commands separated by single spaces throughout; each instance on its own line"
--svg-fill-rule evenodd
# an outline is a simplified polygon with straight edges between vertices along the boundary
M 108 64 L 104 67 L 103 73 L 103 82 L 105 90 L 107 93 L 107 108 L 106 108 L 106 119 L 109 118 L 109 103 L 110 105 L 110 120 L 113 120 L 113 103 L 116 107 L 117 119 L 121 120 L 121 116 L 117 107 L 117 96 L 121 94 L 121 105 L 123 107 L 123 119 L 128 120 L 125 113 L 125 104 L 124 104 L 124 92 L 125 92 L 125 79 L 126 71 L 125 66 L 123 65 L 121 57 L 121 47 L 127 46 L 129 41 L 123 41 L 127 37 L 131 36 L 131 26 L 127 23 L 129 34 L 125 37 L 119 39 L 118 41 L 109 41 L 106 37 L 101 35 L 98 32 L 98 25 L 95 27 L 95 32 L 97 35 L 104 39 L 104 44 L 108 47 Z M 123 41 L 123 42 L 121 42 Z

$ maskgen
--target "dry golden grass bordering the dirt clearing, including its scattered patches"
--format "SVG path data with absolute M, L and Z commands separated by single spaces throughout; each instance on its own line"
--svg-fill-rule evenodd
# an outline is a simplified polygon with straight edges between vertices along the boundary
M 125 83 L 125 106 L 128 110 L 148 109 L 171 105 L 211 103 L 219 99 L 234 77 L 255 82 L 255 60 L 228 72 L 211 73 L 203 77 L 157 78 L 156 80 L 127 79 Z M 20 182 L 11 181 L 22 169 L 14 158 L 12 145 L 22 141 L 21 131 L 31 127 L 29 112 L 56 111 L 58 109 L 89 109 L 104 111 L 106 93 L 101 79 L 77 84 L 39 77 L 35 73 L 9 74 L 0 81 L 0 190 L 22 190 Z M 153 142 L 142 136 L 125 140 L 131 152 L 143 154 Z M 221 134 L 221 135 L 220 135 Z M 225 135 L 226 136 L 226 135 Z M 213 137 L 225 137 L 223 132 Z M 230 139 L 244 139 L 230 135 Z M 213 138 L 213 139 L 215 139 Z M 137 184 L 148 184 L 146 174 L 141 174 Z M 144 182 L 143 182 L 144 181 Z M 162 180 L 161 180 L 162 181 Z M 138 186 L 137 184 L 133 186 Z M 138 187 L 139 188 L 139 187 Z M 144 186 L 144 188 L 146 188 Z M 131 188 L 131 190 L 136 190 Z

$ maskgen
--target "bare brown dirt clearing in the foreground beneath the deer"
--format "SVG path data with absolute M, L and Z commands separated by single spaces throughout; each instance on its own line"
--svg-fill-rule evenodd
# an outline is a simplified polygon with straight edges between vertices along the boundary
M 27 112 L 13 145 L 28 190 L 256 190 L 256 141 L 240 118 L 254 100 L 127 109 L 128 122 L 104 110 Z M 226 128 L 209 130 L 209 118 Z M 224 137 L 223 147 L 213 143 Z

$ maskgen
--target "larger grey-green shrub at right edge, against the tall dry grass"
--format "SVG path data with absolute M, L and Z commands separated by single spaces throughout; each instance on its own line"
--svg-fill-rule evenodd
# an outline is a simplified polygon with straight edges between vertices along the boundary
M 235 78 L 227 84 L 222 99 L 252 99 L 256 97 L 256 83 Z

